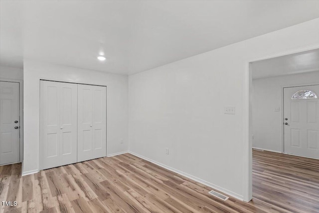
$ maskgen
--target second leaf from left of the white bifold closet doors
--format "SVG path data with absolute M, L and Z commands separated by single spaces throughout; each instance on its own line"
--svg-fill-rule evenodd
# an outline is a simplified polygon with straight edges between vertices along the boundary
M 62 165 L 77 162 L 77 84 L 61 83 L 60 153 Z

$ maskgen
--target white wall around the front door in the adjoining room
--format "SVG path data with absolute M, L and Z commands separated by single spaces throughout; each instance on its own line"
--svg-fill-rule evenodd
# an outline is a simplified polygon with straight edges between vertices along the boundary
M 254 72 L 254 70 L 252 70 Z M 282 150 L 283 87 L 319 84 L 319 71 L 253 80 L 253 147 Z M 280 108 L 275 112 L 275 108 Z

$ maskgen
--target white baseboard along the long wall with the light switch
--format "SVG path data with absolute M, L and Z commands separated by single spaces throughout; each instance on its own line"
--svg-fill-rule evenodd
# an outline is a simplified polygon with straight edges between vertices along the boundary
M 205 185 L 205 186 L 211 187 L 211 188 L 213 188 L 213 189 L 215 189 L 215 190 L 218 190 L 218 191 L 220 191 L 220 192 L 222 192 L 222 193 L 224 193 L 224 194 L 226 194 L 226 195 L 229 195 L 229 196 L 231 196 L 231 197 L 234 197 L 234 198 L 236 198 L 236 199 L 238 199 L 238 200 L 240 200 L 240 201 L 244 201 L 244 197 L 241 196 L 241 195 L 238 195 L 237 193 L 234 193 L 234 192 L 232 192 L 232 191 L 229 191 L 229 190 L 224 189 L 224 188 L 222 188 L 222 187 L 219 187 L 219 186 L 217 186 L 217 185 L 215 185 L 215 184 L 209 183 L 209 182 L 204 181 L 204 180 L 202 180 L 202 179 L 200 179 L 200 178 L 197 178 L 197 177 L 195 177 L 195 176 L 192 176 L 192 175 L 189 175 L 189 174 L 187 174 L 187 173 L 184 173 L 184 172 L 182 172 L 182 171 L 176 170 L 176 169 L 174 169 L 174 168 L 171 168 L 171 167 L 169 167 L 169 166 L 167 166 L 167 165 L 161 164 L 161 163 L 159 163 L 159 162 L 157 162 L 157 161 L 154 161 L 154 160 L 152 160 L 152 159 L 149 159 L 149 158 L 144 157 L 144 156 L 142 156 L 142 155 L 139 155 L 139 154 L 137 154 L 137 153 L 134 153 L 134 152 L 131 152 L 131 151 L 129 151 L 128 153 L 130 153 L 130 154 L 132 154 L 132 155 L 134 155 L 134 156 L 136 156 L 136 157 L 142 158 L 142 159 L 144 159 L 144 160 L 146 160 L 146 161 L 149 161 L 149 162 L 151 162 L 151 163 L 153 163 L 153 164 L 156 164 L 156 165 L 158 165 L 158 166 L 160 166 L 160 167 L 162 167 L 162 168 L 165 168 L 165 169 L 167 169 L 167 170 L 169 170 L 169 171 L 172 171 L 172 172 L 177 173 L 177 174 L 179 174 L 179 175 L 185 176 L 186 178 L 189 178 L 189 179 L 191 179 L 191 180 L 193 180 L 193 181 L 197 181 L 198 183 L 201 183 L 201 184 L 203 184 L 203 185 Z

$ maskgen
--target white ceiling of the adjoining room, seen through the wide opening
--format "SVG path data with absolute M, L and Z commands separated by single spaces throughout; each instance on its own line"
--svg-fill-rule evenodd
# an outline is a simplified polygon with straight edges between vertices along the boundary
M 253 79 L 304 72 L 319 72 L 319 49 L 251 63 Z

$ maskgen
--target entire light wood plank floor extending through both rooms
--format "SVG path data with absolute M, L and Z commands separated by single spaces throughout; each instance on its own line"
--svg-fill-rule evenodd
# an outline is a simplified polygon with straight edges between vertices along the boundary
M 319 212 L 319 161 L 253 151 L 253 200 L 221 201 L 211 188 L 130 154 L 21 177 L 21 164 L 0 167 L 2 212 L 269 213 Z

